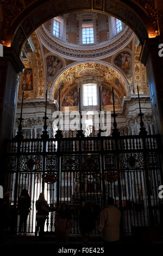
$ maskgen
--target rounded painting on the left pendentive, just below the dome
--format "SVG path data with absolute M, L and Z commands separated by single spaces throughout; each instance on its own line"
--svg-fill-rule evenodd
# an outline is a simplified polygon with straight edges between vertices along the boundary
M 55 74 L 62 68 L 63 63 L 58 57 L 49 55 L 46 58 L 46 65 L 47 65 L 47 79 L 49 81 L 52 81 Z

